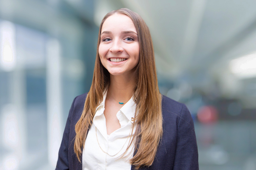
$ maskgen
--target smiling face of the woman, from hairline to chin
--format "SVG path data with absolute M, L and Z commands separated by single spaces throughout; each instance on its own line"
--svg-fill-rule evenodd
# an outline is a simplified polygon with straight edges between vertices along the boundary
M 99 55 L 111 75 L 131 74 L 139 62 L 140 46 L 136 28 L 130 17 L 109 16 L 102 25 Z

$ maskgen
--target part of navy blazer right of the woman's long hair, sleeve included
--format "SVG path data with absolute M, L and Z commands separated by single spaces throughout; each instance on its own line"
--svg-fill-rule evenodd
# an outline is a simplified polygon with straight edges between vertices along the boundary
M 163 136 L 158 156 L 172 160 L 171 169 L 198 170 L 194 123 L 186 105 L 162 96 L 162 116 Z

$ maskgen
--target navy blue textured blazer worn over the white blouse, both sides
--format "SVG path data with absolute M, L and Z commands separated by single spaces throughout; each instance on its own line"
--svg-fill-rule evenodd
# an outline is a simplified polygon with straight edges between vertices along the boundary
M 81 117 L 87 94 L 77 96 L 69 110 L 55 170 L 82 170 L 74 153 L 76 122 Z M 140 170 L 198 170 L 198 151 L 193 119 L 187 107 L 162 96 L 163 136 L 154 162 Z M 82 156 L 81 156 L 82 158 Z M 131 166 L 134 170 L 134 166 Z

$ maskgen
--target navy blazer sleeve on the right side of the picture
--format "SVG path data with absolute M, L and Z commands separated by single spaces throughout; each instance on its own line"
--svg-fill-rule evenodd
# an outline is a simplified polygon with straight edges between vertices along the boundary
M 193 119 L 183 104 L 177 126 L 177 145 L 173 170 L 198 170 L 198 150 Z

